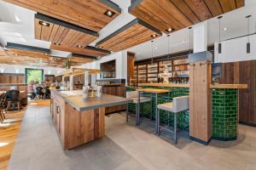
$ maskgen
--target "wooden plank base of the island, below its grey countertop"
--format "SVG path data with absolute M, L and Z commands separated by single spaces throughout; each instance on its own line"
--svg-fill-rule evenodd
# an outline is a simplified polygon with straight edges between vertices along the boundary
M 54 95 L 51 99 L 51 116 L 64 150 L 105 135 L 105 108 L 79 112 L 60 96 Z

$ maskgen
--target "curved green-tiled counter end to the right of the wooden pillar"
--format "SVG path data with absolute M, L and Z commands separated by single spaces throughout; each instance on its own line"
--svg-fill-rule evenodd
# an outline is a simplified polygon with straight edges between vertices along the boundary
M 237 90 L 212 89 L 212 137 L 230 139 L 237 131 Z

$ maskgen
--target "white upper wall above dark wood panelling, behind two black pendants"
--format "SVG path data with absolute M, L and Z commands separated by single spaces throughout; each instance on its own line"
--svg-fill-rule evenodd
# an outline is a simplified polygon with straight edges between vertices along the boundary
M 218 43 L 214 44 L 215 63 L 235 62 L 256 59 L 256 35 L 250 36 L 251 53 L 247 54 L 247 37 L 222 42 L 222 53 L 218 54 Z

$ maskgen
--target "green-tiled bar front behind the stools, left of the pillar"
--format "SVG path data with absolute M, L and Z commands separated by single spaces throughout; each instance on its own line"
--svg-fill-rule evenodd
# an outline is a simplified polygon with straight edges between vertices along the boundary
M 146 87 L 144 86 L 143 88 L 163 88 L 163 87 Z M 164 88 L 164 89 L 170 89 L 170 93 L 166 94 L 158 94 L 158 104 L 166 103 L 166 102 L 171 102 L 172 98 L 178 97 L 178 96 L 183 96 L 183 95 L 189 95 L 189 88 Z M 127 91 L 132 91 L 135 90 L 132 88 L 126 88 Z M 152 111 L 152 116 L 154 119 L 155 116 L 155 96 L 152 94 L 143 94 L 143 96 L 147 97 L 152 97 L 153 99 L 153 111 Z M 141 104 L 141 109 L 143 106 L 143 116 L 150 118 L 150 113 L 151 113 L 151 107 L 150 107 L 150 102 Z M 135 104 L 128 104 L 128 111 L 131 113 L 135 113 L 136 111 L 136 105 Z M 142 112 L 141 112 L 142 113 Z M 160 111 L 160 122 L 161 123 L 170 123 L 171 125 L 173 124 L 173 118 L 174 116 L 171 114 L 168 120 L 168 114 L 166 111 Z M 185 128 L 189 127 L 189 111 L 183 111 L 180 114 L 177 115 L 177 127 L 179 128 Z

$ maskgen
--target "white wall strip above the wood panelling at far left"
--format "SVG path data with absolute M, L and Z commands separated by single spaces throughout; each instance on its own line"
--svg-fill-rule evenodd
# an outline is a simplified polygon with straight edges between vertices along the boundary
M 0 64 L 0 73 L 20 73 L 25 74 L 25 68 L 34 68 L 31 65 L 5 65 Z M 55 75 L 65 69 L 53 67 L 36 67 L 36 69 L 44 69 L 44 75 Z

